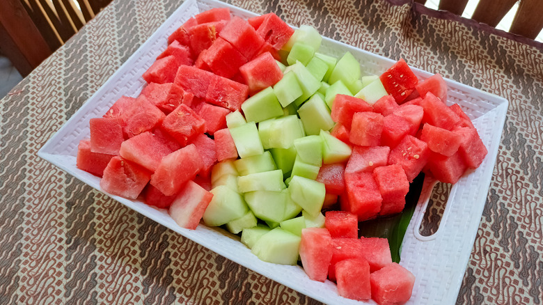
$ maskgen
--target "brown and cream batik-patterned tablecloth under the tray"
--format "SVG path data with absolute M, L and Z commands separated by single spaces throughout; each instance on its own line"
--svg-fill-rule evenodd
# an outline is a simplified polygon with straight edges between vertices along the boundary
M 231 1 L 510 101 L 459 304 L 543 302 L 543 47 L 408 0 Z M 0 104 L 0 304 L 315 304 L 36 153 L 179 0 L 116 0 Z M 433 210 L 439 210 L 434 207 Z

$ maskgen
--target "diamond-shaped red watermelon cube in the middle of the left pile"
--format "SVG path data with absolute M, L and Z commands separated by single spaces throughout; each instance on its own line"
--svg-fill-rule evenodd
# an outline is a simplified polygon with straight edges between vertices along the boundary
M 173 136 L 181 146 L 189 143 L 194 136 L 203 134 L 205 128 L 205 120 L 185 104 L 180 104 L 162 121 L 162 129 Z

